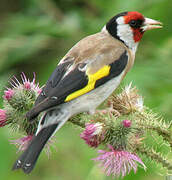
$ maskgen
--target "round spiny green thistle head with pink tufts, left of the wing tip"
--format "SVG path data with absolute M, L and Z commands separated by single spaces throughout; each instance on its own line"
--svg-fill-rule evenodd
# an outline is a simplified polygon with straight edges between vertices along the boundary
M 27 135 L 32 135 L 36 131 L 38 120 L 31 124 L 25 114 L 34 105 L 41 88 L 35 83 L 35 74 L 32 81 L 27 79 L 24 73 L 21 74 L 21 79 L 22 83 L 16 77 L 11 79 L 12 87 L 4 91 L 3 106 L 6 112 L 6 124 Z

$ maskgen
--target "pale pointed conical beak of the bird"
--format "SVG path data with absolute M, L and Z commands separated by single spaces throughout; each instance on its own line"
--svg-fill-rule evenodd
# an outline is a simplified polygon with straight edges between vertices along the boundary
M 145 22 L 141 27 L 143 31 L 162 28 L 162 23 L 150 18 L 145 18 Z

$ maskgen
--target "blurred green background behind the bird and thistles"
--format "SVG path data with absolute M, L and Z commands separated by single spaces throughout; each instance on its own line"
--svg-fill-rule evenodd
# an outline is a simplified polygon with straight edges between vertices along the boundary
M 164 28 L 145 33 L 134 68 L 122 85 L 133 82 L 145 105 L 172 117 L 172 1 L 171 0 L 0 0 L 0 95 L 13 75 L 33 72 L 43 85 L 58 61 L 83 37 L 100 31 L 109 18 L 122 11 L 139 11 L 163 22 Z M 2 98 L 0 99 L 2 108 Z M 42 153 L 30 175 L 12 172 L 19 154 L 9 144 L 15 139 L 7 127 L 0 129 L 0 179 L 3 180 L 111 180 L 91 161 L 96 150 L 79 137 L 80 130 L 66 124 L 56 135 L 56 148 L 48 159 Z M 56 150 L 57 149 L 57 150 Z M 125 180 L 162 180 L 149 160 Z

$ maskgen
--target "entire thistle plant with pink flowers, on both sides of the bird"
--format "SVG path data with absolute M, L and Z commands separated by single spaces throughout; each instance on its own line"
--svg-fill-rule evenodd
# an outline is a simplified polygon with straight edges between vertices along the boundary
M 28 123 L 25 114 L 41 92 L 35 76 L 30 81 L 22 73 L 21 79 L 21 83 L 15 77 L 10 81 L 0 109 L 0 127 L 9 126 L 24 135 L 10 140 L 19 151 L 27 148 L 36 132 L 40 116 Z M 172 173 L 172 125 L 144 106 L 131 83 L 111 95 L 104 109 L 94 115 L 79 114 L 69 121 L 81 128 L 80 137 L 89 147 L 98 149 L 99 155 L 93 160 L 107 176 L 124 177 L 131 171 L 136 173 L 139 167 L 146 170 L 147 160 L 158 165 L 158 172 Z

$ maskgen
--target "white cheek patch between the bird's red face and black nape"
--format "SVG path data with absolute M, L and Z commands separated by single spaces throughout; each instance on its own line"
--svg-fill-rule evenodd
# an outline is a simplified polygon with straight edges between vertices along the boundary
M 134 41 L 133 31 L 129 24 L 125 24 L 124 18 L 119 17 L 117 18 L 116 22 L 118 23 L 117 26 L 117 36 L 125 42 L 125 44 L 132 49 L 134 52 L 137 49 L 138 43 Z

